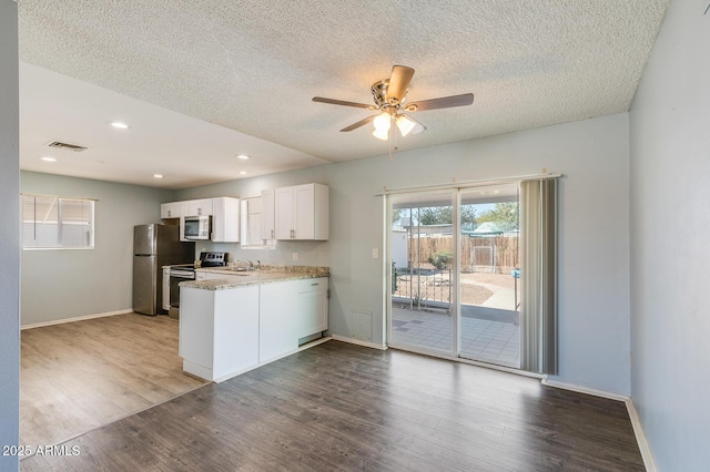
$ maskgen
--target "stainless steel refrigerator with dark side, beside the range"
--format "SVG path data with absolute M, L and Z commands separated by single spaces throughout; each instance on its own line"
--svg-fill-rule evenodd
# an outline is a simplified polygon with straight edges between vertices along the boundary
M 133 228 L 133 310 L 162 312 L 163 266 L 195 259 L 195 244 L 180 242 L 180 226 L 140 225 Z

